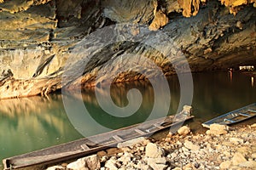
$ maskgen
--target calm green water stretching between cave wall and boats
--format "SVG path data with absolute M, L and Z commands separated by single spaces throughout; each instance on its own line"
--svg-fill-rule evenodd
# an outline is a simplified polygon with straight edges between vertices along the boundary
M 193 75 L 193 80 L 192 105 L 195 119 L 200 122 L 256 102 L 256 84 L 251 77 L 236 73 L 231 79 L 227 72 L 197 73 Z M 180 100 L 179 82 L 177 77 L 169 77 L 168 81 L 171 103 L 166 103 L 164 99 L 167 93 L 165 89 L 161 90 L 163 101 L 160 101 L 159 113 L 151 118 L 166 116 L 166 113 L 161 112 L 161 107 L 170 107 L 169 114 L 177 111 Z M 113 86 L 113 102 L 121 107 L 127 105 L 125 96 L 131 88 L 140 90 L 143 103 L 133 115 L 125 116 L 125 112 L 120 112 L 121 117 L 106 114 L 91 90 L 84 91 L 82 95 L 84 106 L 90 112 L 89 116 L 79 113 L 79 108 L 76 107 L 77 96 L 65 96 L 70 105 L 74 106 L 69 111 L 64 108 L 61 94 L 0 100 L 0 159 L 80 139 L 84 134 L 90 136 L 147 120 L 156 103 L 154 89 L 148 82 Z M 103 88 L 101 94 L 104 99 Z M 131 100 L 137 101 L 135 98 L 137 96 L 131 96 Z M 97 127 L 91 120 L 106 128 Z

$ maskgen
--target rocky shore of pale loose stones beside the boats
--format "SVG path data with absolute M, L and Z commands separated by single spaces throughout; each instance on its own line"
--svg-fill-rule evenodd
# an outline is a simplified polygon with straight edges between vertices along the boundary
M 184 126 L 164 139 L 132 139 L 117 148 L 47 169 L 255 169 L 255 130 L 256 123 L 238 127 L 214 124 L 201 133 L 193 133 Z

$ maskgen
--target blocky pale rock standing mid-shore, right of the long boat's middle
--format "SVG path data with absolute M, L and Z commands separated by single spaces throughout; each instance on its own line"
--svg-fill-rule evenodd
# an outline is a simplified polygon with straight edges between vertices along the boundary
M 158 144 L 148 143 L 145 155 L 151 158 L 161 157 L 164 156 L 164 151 Z

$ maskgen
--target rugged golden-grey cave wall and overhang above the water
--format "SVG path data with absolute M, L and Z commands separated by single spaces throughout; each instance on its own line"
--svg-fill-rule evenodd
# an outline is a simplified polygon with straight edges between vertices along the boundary
M 48 94 L 60 89 L 67 59 L 76 44 L 94 31 L 118 23 L 148 26 L 163 31 L 176 42 L 191 71 L 212 71 L 256 64 L 255 0 L 6 0 L 0 1 L 0 98 Z M 148 41 L 151 41 L 150 38 Z M 86 45 L 93 44 L 88 42 Z M 159 42 L 160 43 L 160 42 Z M 115 44 L 116 45 L 116 44 Z M 123 43 L 121 50 L 136 54 L 143 44 Z M 105 49 L 104 49 L 105 50 Z M 133 50 L 133 51 L 132 51 Z M 119 61 L 120 50 L 98 54 L 90 70 L 72 84 L 94 85 L 93 77 L 104 67 L 102 59 Z M 161 54 L 143 53 L 158 63 L 166 75 L 175 73 L 163 65 Z M 144 79 L 126 74 L 116 82 Z M 102 80 L 104 79 L 102 75 Z

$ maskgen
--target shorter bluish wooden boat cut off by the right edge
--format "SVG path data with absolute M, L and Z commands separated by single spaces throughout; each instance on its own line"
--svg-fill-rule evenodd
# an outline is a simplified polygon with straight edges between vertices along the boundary
M 256 116 L 256 103 L 252 105 L 247 105 L 236 111 L 230 111 L 222 116 L 215 117 L 210 121 L 202 123 L 202 126 L 209 128 L 210 125 L 213 123 L 230 125 L 237 122 L 245 121 L 252 118 L 253 116 Z

